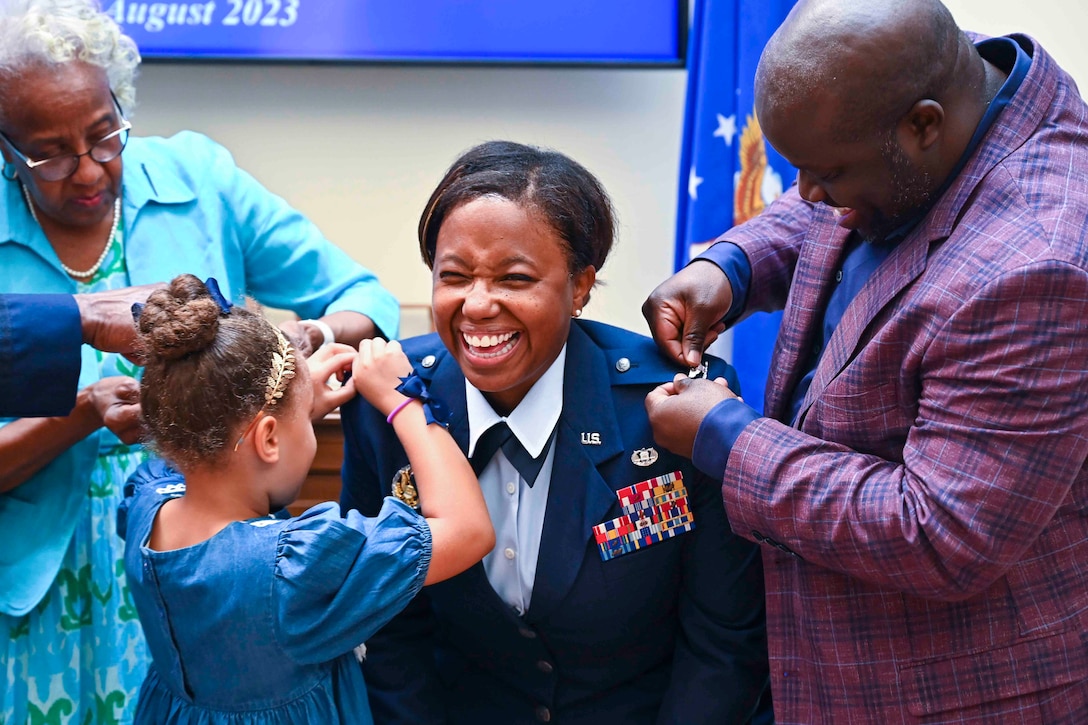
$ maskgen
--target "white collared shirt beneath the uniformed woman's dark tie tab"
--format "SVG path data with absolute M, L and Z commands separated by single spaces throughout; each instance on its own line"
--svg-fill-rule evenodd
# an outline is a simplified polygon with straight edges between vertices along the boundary
M 495 413 L 483 393 L 466 380 L 469 455 L 475 451 L 477 441 L 489 428 L 505 420 L 526 451 L 534 458 L 539 456 L 551 442 L 562 413 L 566 360 L 567 346 L 564 345 L 552 366 L 506 418 Z M 502 448 L 480 471 L 480 488 L 495 527 L 495 548 L 483 557 L 483 567 L 492 588 L 519 616 L 529 610 L 533 597 L 554 460 L 555 445 L 552 444 L 533 486 L 521 478 Z

